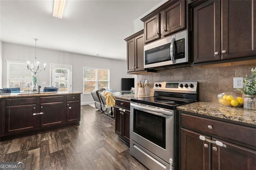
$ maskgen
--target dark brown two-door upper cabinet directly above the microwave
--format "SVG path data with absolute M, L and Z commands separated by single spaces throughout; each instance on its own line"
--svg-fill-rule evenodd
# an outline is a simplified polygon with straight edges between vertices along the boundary
M 185 4 L 184 0 L 170 0 L 142 18 L 145 43 L 186 28 Z

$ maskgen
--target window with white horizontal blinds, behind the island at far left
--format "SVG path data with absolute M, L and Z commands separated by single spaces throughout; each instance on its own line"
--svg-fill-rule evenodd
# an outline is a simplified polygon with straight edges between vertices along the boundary
M 7 62 L 7 83 L 6 87 L 20 87 L 21 91 L 31 90 L 33 73 L 28 70 L 27 63 L 24 61 Z M 33 66 L 32 66 L 33 67 Z

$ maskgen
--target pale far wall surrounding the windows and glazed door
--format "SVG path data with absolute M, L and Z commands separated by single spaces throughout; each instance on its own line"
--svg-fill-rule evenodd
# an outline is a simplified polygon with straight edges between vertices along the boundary
M 113 51 L 114 52 L 114 51 Z M 6 60 L 34 61 L 35 47 L 2 43 L 3 79 L 2 87 L 6 87 Z M 121 90 L 121 78 L 134 77 L 126 74 L 126 61 L 93 57 L 64 51 L 43 49 L 37 47 L 37 58 L 40 63 L 46 63 L 46 70 L 38 73 L 39 84 L 46 81 L 50 86 L 50 63 L 72 65 L 72 91 L 83 91 L 83 67 L 96 67 L 110 69 L 110 89 L 113 92 Z M 42 66 L 41 66 L 42 67 Z M 81 103 L 86 104 L 93 101 L 91 95 L 82 94 Z

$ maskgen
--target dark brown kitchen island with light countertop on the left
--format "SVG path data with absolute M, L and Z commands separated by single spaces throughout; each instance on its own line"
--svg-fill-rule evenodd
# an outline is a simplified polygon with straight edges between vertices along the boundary
M 0 94 L 0 140 L 79 125 L 80 92 Z

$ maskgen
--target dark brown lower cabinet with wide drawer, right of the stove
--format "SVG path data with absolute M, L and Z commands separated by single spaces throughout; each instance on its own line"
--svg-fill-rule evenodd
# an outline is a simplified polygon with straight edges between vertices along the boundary
M 203 121 L 205 125 L 200 124 Z M 241 129 L 248 130 L 241 133 Z M 255 128 L 181 113 L 180 131 L 181 170 L 256 170 Z M 223 140 L 223 131 L 229 134 L 228 142 Z M 251 138 L 241 140 L 248 133 Z M 228 139 L 234 134 L 233 140 Z

